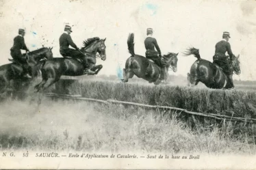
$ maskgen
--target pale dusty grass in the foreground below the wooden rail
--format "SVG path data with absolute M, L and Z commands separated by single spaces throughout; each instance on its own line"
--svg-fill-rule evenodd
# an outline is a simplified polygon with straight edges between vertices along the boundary
M 171 115 L 171 116 L 170 116 Z M 1 149 L 90 152 L 255 154 L 253 138 L 231 128 L 192 130 L 175 114 L 121 105 L 44 98 L 7 100 L 0 111 Z

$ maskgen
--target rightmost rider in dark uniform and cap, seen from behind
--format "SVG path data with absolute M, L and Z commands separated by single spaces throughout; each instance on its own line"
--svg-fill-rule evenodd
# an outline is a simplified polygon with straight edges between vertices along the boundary
M 227 75 L 227 88 L 234 88 L 233 85 L 233 68 L 231 61 L 233 60 L 233 53 L 231 51 L 231 46 L 229 44 L 230 34 L 225 31 L 222 35 L 222 40 L 218 42 L 215 46 L 214 63 L 222 68 L 223 72 Z M 225 53 L 229 56 L 226 56 Z

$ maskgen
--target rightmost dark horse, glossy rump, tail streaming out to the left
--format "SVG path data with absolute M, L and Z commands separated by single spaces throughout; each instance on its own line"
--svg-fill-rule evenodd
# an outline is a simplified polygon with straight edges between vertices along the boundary
M 206 87 L 212 89 L 229 89 L 229 83 L 227 81 L 227 75 L 223 72 L 222 68 L 216 64 L 201 59 L 199 49 L 194 47 L 188 48 L 184 55 L 194 55 L 197 60 L 192 64 L 190 73 L 188 73 L 189 85 L 197 85 L 199 82 L 204 83 Z M 238 57 L 233 57 L 231 66 L 235 74 L 240 74 L 240 61 Z

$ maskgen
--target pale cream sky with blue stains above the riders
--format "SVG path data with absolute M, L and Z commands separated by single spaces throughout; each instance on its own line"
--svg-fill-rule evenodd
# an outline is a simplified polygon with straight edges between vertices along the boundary
M 196 61 L 182 52 L 199 48 L 201 58 L 212 61 L 215 44 L 229 31 L 232 51 L 240 54 L 243 81 L 256 80 L 256 1 L 79 1 L 79 0 L 2 0 L 0 2 L 0 65 L 9 63 L 10 48 L 18 29 L 26 30 L 30 51 L 53 46 L 53 57 L 60 57 L 59 38 L 66 23 L 77 46 L 87 38 L 106 38 L 106 61 L 99 74 L 120 73 L 130 57 L 129 33 L 135 34 L 135 53 L 144 55 L 146 29 L 153 28 L 162 54 L 179 53 L 178 71 L 185 76 Z M 25 51 L 24 51 L 25 53 Z

